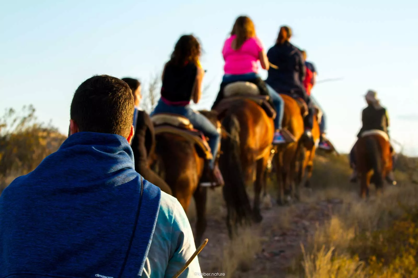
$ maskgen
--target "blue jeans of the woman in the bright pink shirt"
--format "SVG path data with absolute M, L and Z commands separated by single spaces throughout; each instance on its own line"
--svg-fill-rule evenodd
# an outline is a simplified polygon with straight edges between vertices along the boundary
M 222 82 L 229 83 L 229 82 L 236 82 L 236 81 L 245 81 L 248 79 L 254 79 L 259 77 L 257 73 L 246 73 L 241 75 L 224 75 L 222 78 Z M 273 105 L 275 106 L 276 110 L 276 118 L 274 118 L 274 128 L 275 130 L 282 129 L 282 120 L 283 120 L 283 111 L 284 111 L 284 102 L 283 98 L 267 83 L 265 84 L 268 89 L 268 95 L 270 96 L 271 100 L 273 101 Z

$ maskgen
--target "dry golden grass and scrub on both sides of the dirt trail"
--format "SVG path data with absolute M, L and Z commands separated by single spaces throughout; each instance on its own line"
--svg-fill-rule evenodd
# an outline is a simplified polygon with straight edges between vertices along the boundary
M 37 123 L 34 113 L 32 107 L 24 108 L 23 115 L 9 110 L 0 119 L 0 190 L 13 178 L 36 168 L 66 138 L 51 125 Z M 307 278 L 418 277 L 417 166 L 417 159 L 400 155 L 395 173 L 398 186 L 387 187 L 380 198 L 372 190 L 372 198 L 362 201 L 358 198 L 359 185 L 347 181 L 347 156 L 318 156 L 311 183 L 313 193 L 306 191 L 302 195 L 302 201 L 311 208 L 304 219 L 315 217 L 319 201 L 338 198 L 343 204 L 329 220 L 316 225 L 314 233 L 308 233 L 307 243 L 301 246 L 301 257 L 294 258 L 293 274 L 302 273 L 297 276 Z M 248 188 L 250 196 L 252 191 L 252 187 Z M 274 191 L 273 187 L 273 196 Z M 296 206 L 280 208 L 271 228 L 292 228 L 297 212 Z M 192 201 L 188 211 L 191 222 L 195 215 Z M 225 229 L 222 188 L 208 190 L 207 215 L 211 221 L 217 221 L 216 225 L 222 225 L 217 226 L 219 230 Z M 247 277 L 246 272 L 254 267 L 255 255 L 270 236 L 270 231 L 257 226 L 241 229 L 233 241 L 216 243 L 217 255 L 210 268 L 226 277 L 236 277 L 237 273 Z

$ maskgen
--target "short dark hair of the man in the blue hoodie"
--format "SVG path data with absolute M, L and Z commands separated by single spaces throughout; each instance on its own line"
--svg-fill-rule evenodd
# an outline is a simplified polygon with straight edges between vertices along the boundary
M 119 78 L 96 75 L 74 93 L 70 116 L 79 131 L 129 136 L 134 99 L 129 86 Z

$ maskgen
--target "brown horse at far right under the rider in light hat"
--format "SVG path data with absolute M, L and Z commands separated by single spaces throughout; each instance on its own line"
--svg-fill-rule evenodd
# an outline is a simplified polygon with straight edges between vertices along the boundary
M 360 178 L 360 196 L 369 197 L 370 183 L 374 183 L 377 194 L 383 190 L 383 180 L 392 169 L 389 138 L 380 130 L 363 133 L 357 140 L 355 153 Z M 386 135 L 386 136 L 385 136 Z

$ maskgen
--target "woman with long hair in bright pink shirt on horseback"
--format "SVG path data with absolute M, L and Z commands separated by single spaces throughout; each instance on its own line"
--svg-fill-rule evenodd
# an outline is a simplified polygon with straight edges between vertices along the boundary
M 276 132 L 273 144 L 291 142 L 292 136 L 286 141 L 280 130 L 283 119 L 283 99 L 258 75 L 258 63 L 264 70 L 268 70 L 269 63 L 262 43 L 255 34 L 252 20 L 247 16 L 240 16 L 234 23 L 231 36 L 225 41 L 222 55 L 225 60 L 224 77 L 217 98 L 212 105 L 214 108 L 223 98 L 224 87 L 237 81 L 248 81 L 257 85 L 261 95 L 269 95 L 270 103 L 275 108 L 277 115 L 274 119 Z M 286 133 L 286 135 L 288 135 Z

